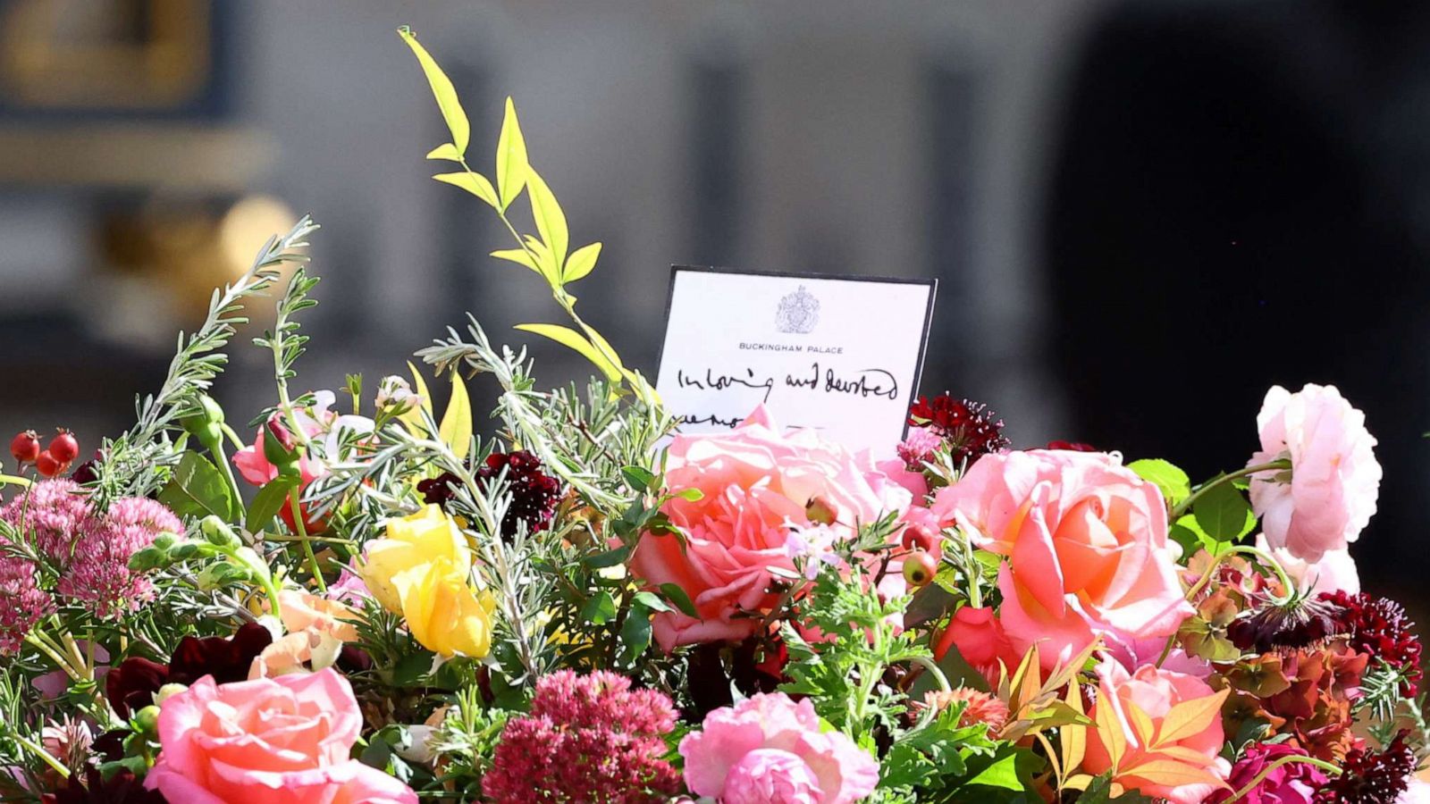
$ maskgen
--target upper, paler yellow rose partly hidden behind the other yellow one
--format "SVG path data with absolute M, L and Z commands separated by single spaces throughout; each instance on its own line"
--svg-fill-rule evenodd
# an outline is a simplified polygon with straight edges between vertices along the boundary
M 410 516 L 389 519 L 386 538 L 368 542 L 362 579 L 378 602 L 402 614 L 393 577 L 439 559 L 463 577 L 472 569 L 472 551 L 460 528 L 442 508 L 428 505 Z

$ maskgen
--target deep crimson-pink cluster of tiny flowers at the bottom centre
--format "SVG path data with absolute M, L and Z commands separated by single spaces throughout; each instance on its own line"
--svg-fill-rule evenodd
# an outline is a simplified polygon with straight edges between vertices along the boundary
M 672 728 L 671 700 L 632 691 L 623 675 L 545 675 L 531 714 L 502 731 L 482 793 L 502 804 L 665 801 L 679 791 L 679 775 L 662 758 Z

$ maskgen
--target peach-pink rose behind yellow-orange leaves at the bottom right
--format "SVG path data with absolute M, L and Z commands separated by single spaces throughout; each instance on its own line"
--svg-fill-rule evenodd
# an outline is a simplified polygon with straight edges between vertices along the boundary
M 1231 765 L 1218 754 L 1228 690 L 1216 692 L 1200 678 L 1150 664 L 1128 674 L 1104 661 L 1097 675 L 1097 702 L 1088 710 L 1097 727 L 1087 731 L 1085 773 L 1111 770 L 1123 787 L 1173 804 L 1197 804 L 1227 787 Z

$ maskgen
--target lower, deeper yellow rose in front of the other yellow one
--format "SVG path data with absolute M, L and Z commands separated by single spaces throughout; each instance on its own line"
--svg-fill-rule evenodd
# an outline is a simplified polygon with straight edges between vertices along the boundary
M 492 649 L 496 598 L 468 582 L 469 569 L 438 558 L 392 577 L 412 637 L 443 657 L 482 658 Z

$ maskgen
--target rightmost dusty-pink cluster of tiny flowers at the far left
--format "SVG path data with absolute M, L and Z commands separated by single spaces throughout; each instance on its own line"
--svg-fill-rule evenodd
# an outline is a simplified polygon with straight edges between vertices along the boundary
M 129 569 L 129 559 L 166 532 L 183 534 L 183 522 L 163 504 L 142 496 L 114 501 L 103 522 L 80 536 L 60 594 L 89 604 L 99 617 L 137 609 L 153 599 L 154 587 Z

